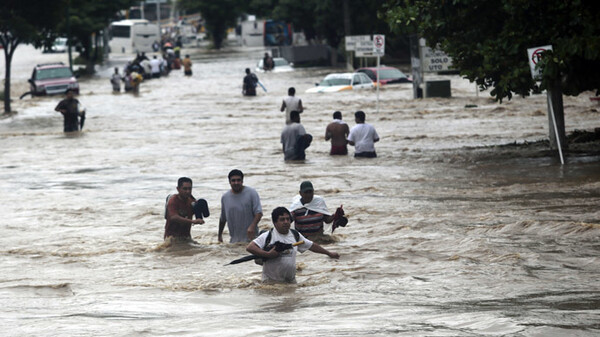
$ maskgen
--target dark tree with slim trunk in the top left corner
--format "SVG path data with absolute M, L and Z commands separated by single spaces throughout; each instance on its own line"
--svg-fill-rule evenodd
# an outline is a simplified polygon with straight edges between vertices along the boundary
M 0 44 L 4 49 L 4 112 L 10 107 L 10 70 L 12 57 L 22 43 L 43 44 L 60 18 L 62 1 L 3 0 L 0 2 Z

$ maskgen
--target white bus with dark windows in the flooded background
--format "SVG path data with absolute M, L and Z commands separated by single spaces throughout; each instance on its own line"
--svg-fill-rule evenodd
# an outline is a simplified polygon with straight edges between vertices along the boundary
M 154 41 L 160 41 L 158 26 L 148 20 L 115 21 L 110 32 L 110 52 L 116 54 L 151 52 Z

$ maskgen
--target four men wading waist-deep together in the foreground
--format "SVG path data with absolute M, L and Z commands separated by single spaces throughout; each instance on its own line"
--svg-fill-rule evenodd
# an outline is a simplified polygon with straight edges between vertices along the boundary
M 292 198 L 289 208 L 277 207 L 271 213 L 274 229 L 259 232 L 263 216 L 258 192 L 244 185 L 244 173 L 231 170 L 227 176 L 230 189 L 221 197 L 221 214 L 217 238 L 223 242 L 225 225 L 229 242 L 246 242 L 246 250 L 262 261 L 262 279 L 266 282 L 295 282 L 296 253 L 310 250 L 339 258 L 339 254 L 323 248 L 314 240 L 324 235 L 324 224 L 332 224 L 332 232 L 346 226 L 342 206 L 330 212 L 325 200 L 314 194 L 310 181 L 300 184 L 299 195 Z M 165 240 L 193 241 L 191 227 L 204 224 L 208 216 L 205 200 L 192 196 L 192 180 L 181 177 L 177 181 L 177 194 L 167 198 L 165 207 Z M 291 223 L 295 222 L 295 228 Z

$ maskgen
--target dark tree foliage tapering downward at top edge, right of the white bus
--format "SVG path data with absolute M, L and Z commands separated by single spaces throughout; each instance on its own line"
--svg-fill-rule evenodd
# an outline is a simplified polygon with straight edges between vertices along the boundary
M 200 12 L 213 45 L 221 49 L 227 37 L 227 29 L 234 27 L 246 8 L 244 0 L 179 0 L 179 6 L 187 11 Z

